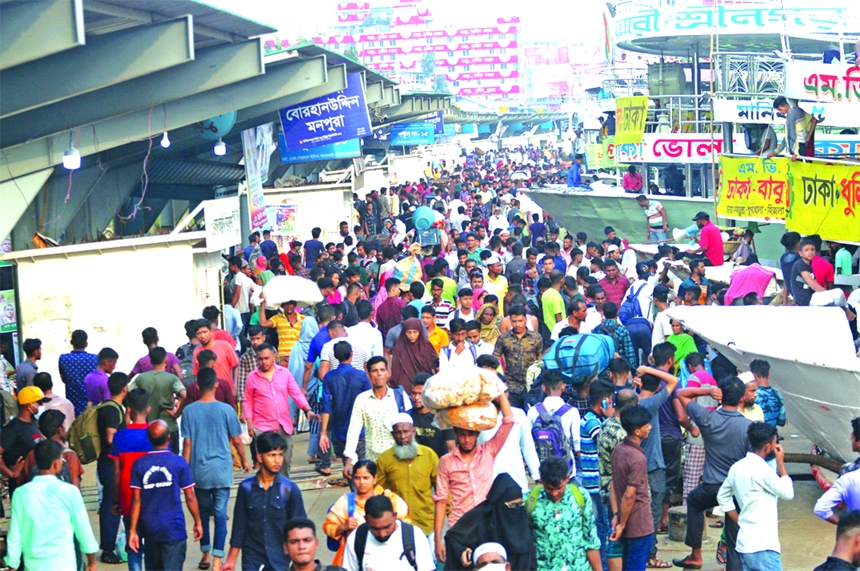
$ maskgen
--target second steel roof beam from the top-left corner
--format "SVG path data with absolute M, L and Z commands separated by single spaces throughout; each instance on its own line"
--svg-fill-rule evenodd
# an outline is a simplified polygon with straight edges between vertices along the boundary
M 191 16 L 114 34 L 3 72 L 0 118 L 194 59 Z

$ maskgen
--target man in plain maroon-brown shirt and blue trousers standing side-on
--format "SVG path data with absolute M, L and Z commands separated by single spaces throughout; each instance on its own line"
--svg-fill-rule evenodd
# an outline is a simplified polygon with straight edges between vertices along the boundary
M 651 433 L 651 413 L 642 405 L 628 406 L 621 411 L 621 426 L 627 438 L 612 451 L 609 500 L 615 516 L 609 540 L 624 546 L 625 571 L 645 571 L 654 541 L 654 520 L 642 441 Z

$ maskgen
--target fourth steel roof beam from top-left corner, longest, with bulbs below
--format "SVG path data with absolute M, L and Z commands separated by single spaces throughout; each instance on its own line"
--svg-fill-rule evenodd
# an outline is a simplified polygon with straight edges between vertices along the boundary
M 94 123 L 93 128 L 85 126 L 77 133 L 70 131 L 32 141 L 0 154 L 0 182 L 62 163 L 70 134 L 75 136 L 81 155 L 87 156 L 158 136 L 164 128 L 178 129 L 235 109 L 295 95 L 325 84 L 327 77 L 325 56 L 288 60 L 266 66 L 266 73 L 259 77 L 165 103 L 166 126 L 157 120 L 153 124 L 149 110 L 144 109 Z

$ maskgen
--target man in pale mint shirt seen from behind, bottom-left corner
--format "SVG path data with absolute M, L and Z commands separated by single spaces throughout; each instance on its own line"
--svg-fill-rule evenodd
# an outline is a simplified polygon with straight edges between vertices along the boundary
M 99 542 L 80 490 L 59 479 L 63 447 L 54 440 L 36 445 L 39 475 L 12 496 L 12 519 L 7 538 L 6 565 L 28 571 L 76 571 L 72 539 L 87 556 L 87 571 L 96 569 Z

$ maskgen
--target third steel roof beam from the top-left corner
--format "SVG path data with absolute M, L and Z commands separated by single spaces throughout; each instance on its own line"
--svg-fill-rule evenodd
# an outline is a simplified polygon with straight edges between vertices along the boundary
M 201 50 L 186 64 L 7 117 L 0 130 L 0 148 L 182 99 L 265 71 L 259 39 Z M 153 123 L 161 124 L 164 118 L 164 109 L 157 107 Z

